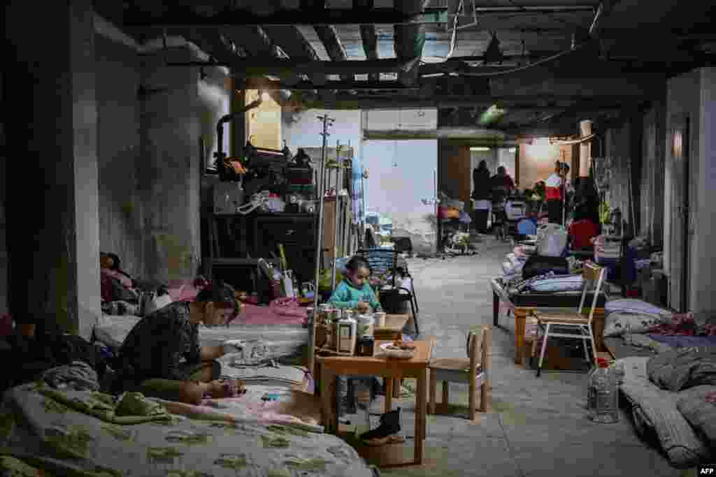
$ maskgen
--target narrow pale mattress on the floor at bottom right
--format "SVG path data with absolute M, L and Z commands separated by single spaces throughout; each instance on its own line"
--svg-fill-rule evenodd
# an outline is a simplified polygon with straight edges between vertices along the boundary
M 677 408 L 685 391 L 672 393 L 654 385 L 647 375 L 649 359 L 642 356 L 619 359 L 624 363 L 620 390 L 632 404 L 637 431 L 654 431 L 675 468 L 693 467 L 708 458 L 710 451 Z

